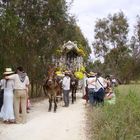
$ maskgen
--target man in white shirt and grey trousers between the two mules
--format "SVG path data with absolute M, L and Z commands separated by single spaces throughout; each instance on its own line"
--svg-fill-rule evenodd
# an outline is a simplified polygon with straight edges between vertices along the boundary
M 64 107 L 69 106 L 69 92 L 70 92 L 70 76 L 69 72 L 65 72 L 65 76 L 62 80 L 62 88 L 63 88 L 63 100 L 64 100 Z

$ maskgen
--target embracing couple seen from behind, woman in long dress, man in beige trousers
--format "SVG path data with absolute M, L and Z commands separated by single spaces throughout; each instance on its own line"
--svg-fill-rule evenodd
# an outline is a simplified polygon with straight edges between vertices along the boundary
M 23 67 L 17 67 L 15 72 L 6 68 L 0 86 L 3 94 L 0 118 L 4 123 L 26 123 L 29 78 Z

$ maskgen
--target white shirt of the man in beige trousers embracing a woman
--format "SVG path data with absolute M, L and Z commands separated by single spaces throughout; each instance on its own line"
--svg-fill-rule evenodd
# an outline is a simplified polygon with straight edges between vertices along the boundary
M 27 89 L 27 86 L 29 85 L 28 76 L 25 76 L 25 80 L 23 82 L 20 81 L 18 74 L 13 74 L 7 77 L 14 80 L 14 89 Z

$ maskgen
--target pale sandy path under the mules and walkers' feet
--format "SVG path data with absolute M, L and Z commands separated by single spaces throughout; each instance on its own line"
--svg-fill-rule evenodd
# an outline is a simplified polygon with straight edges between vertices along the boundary
M 85 140 L 85 105 L 77 96 L 68 108 L 59 103 L 56 113 L 47 111 L 47 100 L 33 104 L 26 124 L 0 122 L 0 140 Z

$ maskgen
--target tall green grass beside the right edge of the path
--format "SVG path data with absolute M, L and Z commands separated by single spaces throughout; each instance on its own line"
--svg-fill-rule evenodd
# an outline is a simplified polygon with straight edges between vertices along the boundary
M 87 110 L 90 140 L 140 139 L 140 85 L 120 85 L 116 104 Z

